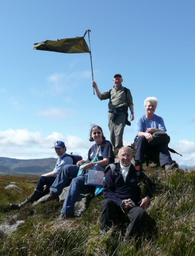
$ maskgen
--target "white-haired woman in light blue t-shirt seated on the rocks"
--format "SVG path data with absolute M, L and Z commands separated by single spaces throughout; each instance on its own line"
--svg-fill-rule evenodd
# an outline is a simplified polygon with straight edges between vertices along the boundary
M 146 152 L 155 151 L 159 153 L 159 161 L 161 167 L 165 170 L 171 170 L 174 167 L 178 167 L 178 164 L 174 162 L 169 153 L 168 145 L 151 146 L 149 141 L 153 140 L 153 133 L 155 131 L 166 131 L 163 118 L 154 114 L 158 105 L 158 99 L 155 97 L 148 97 L 144 101 L 144 107 L 146 114 L 139 117 L 136 121 L 136 131 L 138 133 L 135 146 L 136 146 L 136 169 L 142 168 L 142 161 Z

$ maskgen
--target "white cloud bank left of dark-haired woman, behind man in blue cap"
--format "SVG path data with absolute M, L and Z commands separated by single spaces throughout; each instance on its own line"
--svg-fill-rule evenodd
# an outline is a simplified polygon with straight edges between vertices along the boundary
M 57 140 L 65 142 L 68 153 L 73 151 L 87 158 L 91 146 L 89 141 L 74 135 L 63 136 L 58 131 L 44 137 L 40 131 L 33 132 L 26 128 L 0 131 L 0 156 L 17 159 L 54 157 L 56 153 L 51 148 Z

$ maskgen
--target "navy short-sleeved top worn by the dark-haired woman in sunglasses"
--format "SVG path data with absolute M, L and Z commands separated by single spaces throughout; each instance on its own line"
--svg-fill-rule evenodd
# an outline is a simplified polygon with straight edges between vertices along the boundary
M 98 154 L 96 155 L 98 151 Z M 109 162 L 114 163 L 114 153 L 113 146 L 110 141 L 103 140 L 100 145 L 94 144 L 89 148 L 88 151 L 88 160 L 91 161 L 93 158 L 97 156 L 98 160 L 103 160 L 104 158 L 110 158 Z

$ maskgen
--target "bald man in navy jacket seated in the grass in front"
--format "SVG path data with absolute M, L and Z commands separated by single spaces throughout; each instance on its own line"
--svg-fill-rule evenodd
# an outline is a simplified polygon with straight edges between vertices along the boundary
M 119 216 L 128 217 L 126 237 L 139 235 L 146 218 L 145 207 L 153 197 L 154 183 L 144 172 L 137 172 L 131 163 L 133 153 L 129 147 L 123 147 L 118 154 L 119 163 L 109 165 L 111 170 L 104 183 L 104 200 L 101 205 L 101 230 L 113 226 Z M 141 198 L 140 180 L 146 184 L 146 197 Z M 122 219 L 121 218 L 121 219 Z

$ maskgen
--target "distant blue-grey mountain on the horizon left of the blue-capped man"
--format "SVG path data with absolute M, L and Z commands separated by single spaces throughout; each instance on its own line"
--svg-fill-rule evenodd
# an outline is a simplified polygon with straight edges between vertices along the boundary
M 40 176 L 44 173 L 53 171 L 56 166 L 56 161 L 56 158 L 20 160 L 0 157 L 0 174 Z

